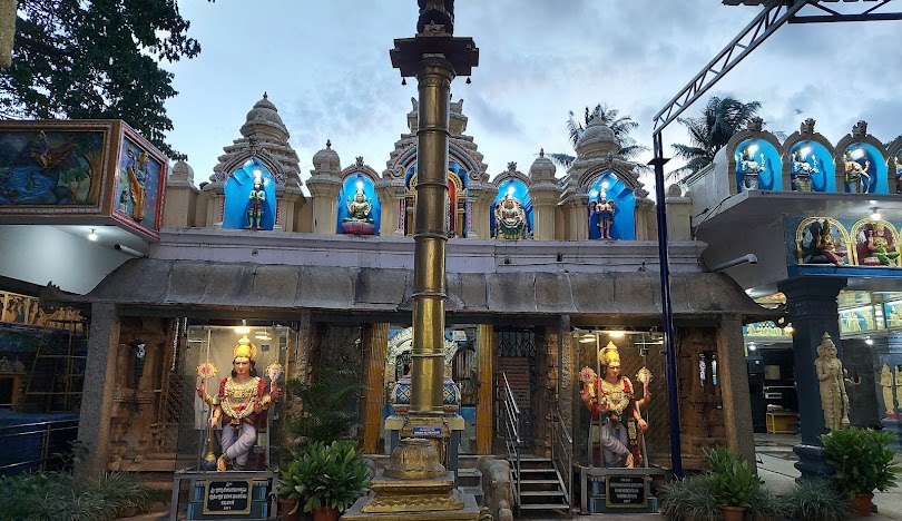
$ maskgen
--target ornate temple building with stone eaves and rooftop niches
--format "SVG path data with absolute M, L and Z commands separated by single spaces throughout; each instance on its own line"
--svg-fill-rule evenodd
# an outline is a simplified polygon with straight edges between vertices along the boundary
M 84 344 L 70 353 L 81 360 L 81 392 L 68 412 L 79 414 L 78 439 L 90 448 L 86 469 L 171 473 L 195 464 L 206 421 L 195 391 L 199 367 L 210 363 L 225 376 L 233 350 L 249 344 L 261 373 L 278 364 L 294 379 L 316 379 L 325 368 L 359 374 L 367 389 L 354 405 L 362 420 L 354 435 L 367 454 L 391 451 L 396 417 L 410 406 L 416 108 L 413 100 L 381 174 L 363 157 L 343 166 L 336 136 L 313 156 L 302 180 L 288 128 L 264 94 L 199 187 L 190 166 L 177 163 L 169 171 L 136 132 L 124 130 L 117 141 L 117 122 L 0 128 L 0 144 L 20 150 L 47 140 L 67 151 L 69 140 L 102 135 L 95 149 L 108 167 L 90 170 L 98 176 L 88 184 L 95 191 L 58 176 L 56 185 L 29 186 L 24 198 L 16 193 L 18 200 L 9 187 L 0 193 L 4 240 L 65 232 L 67 243 L 79 243 L 73 262 L 90 268 L 82 279 L 56 278 L 52 266 L 28 271 L 21 256 L 0 254 L 2 334 L 17 328 L 37 338 L 32 344 L 51 336 L 37 314 L 14 313 L 18 297 L 26 309 L 40 296 L 47 314 L 68 309 L 80 317 L 82 330 L 69 338 Z M 543 150 L 520 171 L 516 161 L 490 169 L 477 139 L 464 134 L 467 122 L 463 100 L 452 102 L 443 346 L 445 413 L 455 419 L 451 452 L 506 455 L 503 411 L 513 403 L 526 451 L 551 453 L 552 432 L 565 427 L 572 463 L 594 466 L 598 411 L 587 396 L 615 357 L 631 381 L 628 394 L 641 397 L 629 427 L 629 444 L 641 445 L 637 466 L 668 468 L 673 432 L 688 469 L 700 468 L 702 449 L 715 444 L 751 456 L 753 424 L 767 400 L 783 406 L 765 406 L 769 421 L 777 411 L 801 413 L 803 438 L 810 438 L 824 430 L 805 420 L 820 414 L 820 399 L 798 393 L 793 403 L 788 390 L 796 383 L 816 389 L 812 354 L 824 332 L 837 346 L 866 345 L 854 355 L 855 348 L 845 350 L 852 422 L 899 417 L 889 403 L 882 412 L 869 405 L 879 403 L 875 393 L 886 380 L 882 366 L 875 372 L 869 364 L 879 357 L 890 367 L 891 390 L 898 389 L 902 360 L 893 330 L 902 322 L 893 317 L 902 298 L 888 292 L 902 291 L 894 247 L 902 223 L 893 220 L 902 140 L 886 149 L 859 126 L 833 147 L 811 122 L 781 144 L 752 127 L 712 168 L 668 188 L 658 204 L 669 216 L 678 390 L 671 402 L 655 201 L 636 165 L 618 156 L 611 129 L 591 120 L 567 171 L 557 173 Z M 87 161 L 72 147 L 68 154 L 72 165 Z M 17 157 L 3 168 L 30 171 L 33 156 Z M 782 220 L 762 205 L 778 205 Z M 75 215 L 72 208 L 82 207 L 85 215 Z M 864 214 L 884 208 L 883 218 Z M 58 226 L 45 229 L 52 219 Z M 114 238 L 80 237 L 87 229 Z M 757 264 L 717 267 L 749 253 Z M 42 289 L 51 281 L 55 286 Z M 839 309 L 837 299 L 854 307 Z M 805 306 L 820 306 L 814 318 Z M 842 331 L 849 313 L 857 322 L 850 318 L 851 330 Z M 787 322 L 793 335 L 777 327 Z M 792 338 L 792 363 L 762 365 L 765 350 L 748 350 L 763 338 Z M 55 412 L 31 392 L 36 372 L 28 367 L 41 366 L 40 351 L 26 344 L 16 353 L 0 348 L 0 356 L 20 358 L 3 402 Z M 778 351 L 774 360 L 786 356 Z M 282 382 L 277 372 L 269 376 Z M 266 414 L 248 468 L 276 465 L 292 443 L 285 419 L 294 405 L 284 402 Z M 669 409 L 678 411 L 678 425 L 669 424 Z M 635 429 L 639 419 L 648 424 L 644 434 Z

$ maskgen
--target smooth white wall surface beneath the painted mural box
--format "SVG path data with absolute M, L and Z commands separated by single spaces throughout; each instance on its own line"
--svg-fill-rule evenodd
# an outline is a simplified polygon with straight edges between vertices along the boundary
M 52 226 L 0 226 L 0 275 L 85 294 L 131 258 Z

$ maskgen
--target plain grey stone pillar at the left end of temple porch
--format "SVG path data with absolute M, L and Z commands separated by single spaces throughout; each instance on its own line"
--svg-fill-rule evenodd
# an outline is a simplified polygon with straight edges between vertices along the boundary
M 116 315 L 116 306 L 107 303 L 91 304 L 88 357 L 78 420 L 78 441 L 89 452 L 76 468 L 80 476 L 98 478 L 107 470 L 118 343 L 119 317 Z

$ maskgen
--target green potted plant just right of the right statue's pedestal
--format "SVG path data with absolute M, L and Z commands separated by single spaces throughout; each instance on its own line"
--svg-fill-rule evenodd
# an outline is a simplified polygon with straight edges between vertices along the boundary
M 747 461 L 725 446 L 705 450 L 710 466 L 710 493 L 720 505 L 725 521 L 742 521 L 745 509 L 761 488 Z

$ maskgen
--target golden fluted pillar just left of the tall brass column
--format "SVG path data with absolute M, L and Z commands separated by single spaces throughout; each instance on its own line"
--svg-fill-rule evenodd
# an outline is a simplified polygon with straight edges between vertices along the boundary
M 364 412 L 363 452 L 378 454 L 385 396 L 385 356 L 389 352 L 389 323 L 370 324 L 363 333 L 366 374 L 366 409 Z

